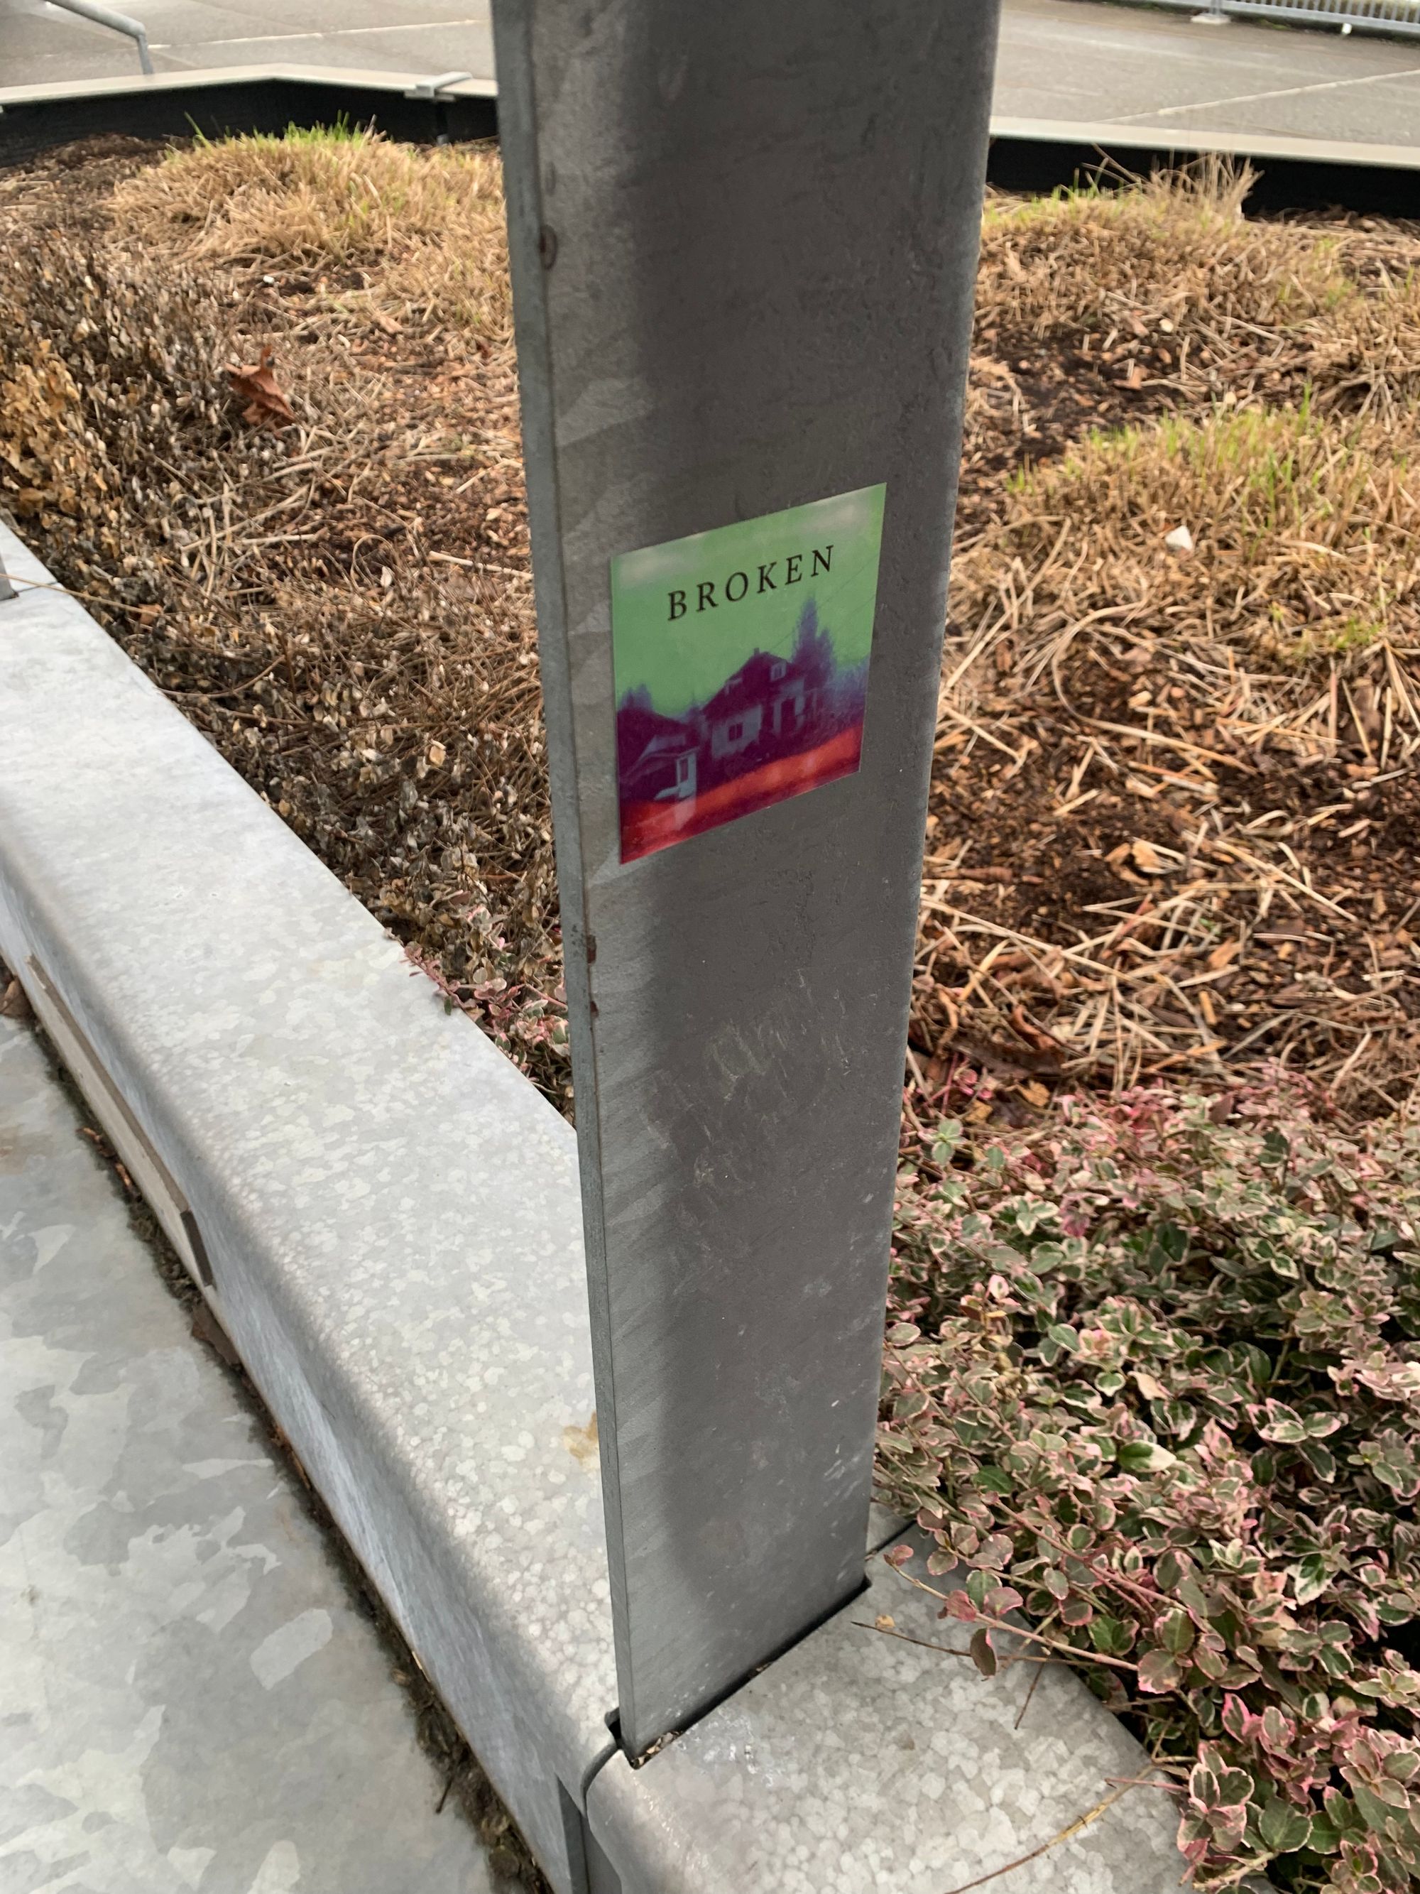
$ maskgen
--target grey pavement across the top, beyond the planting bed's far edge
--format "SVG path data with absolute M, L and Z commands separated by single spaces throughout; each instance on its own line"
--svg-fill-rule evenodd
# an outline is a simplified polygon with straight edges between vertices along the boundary
M 159 72 L 307 64 L 492 78 L 487 0 L 123 0 Z M 0 0 L 0 87 L 136 74 L 129 40 Z M 1238 25 L 1098 0 L 1005 0 L 996 110 L 1420 144 L 1420 40 Z

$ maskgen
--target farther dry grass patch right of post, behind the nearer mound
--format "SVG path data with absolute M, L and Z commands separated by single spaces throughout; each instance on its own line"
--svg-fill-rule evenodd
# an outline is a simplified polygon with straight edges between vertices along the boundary
M 1210 163 L 1132 191 L 988 205 L 966 532 L 1003 474 L 1102 422 L 1303 400 L 1403 415 L 1420 392 L 1420 233 L 1250 222 L 1246 188 Z

